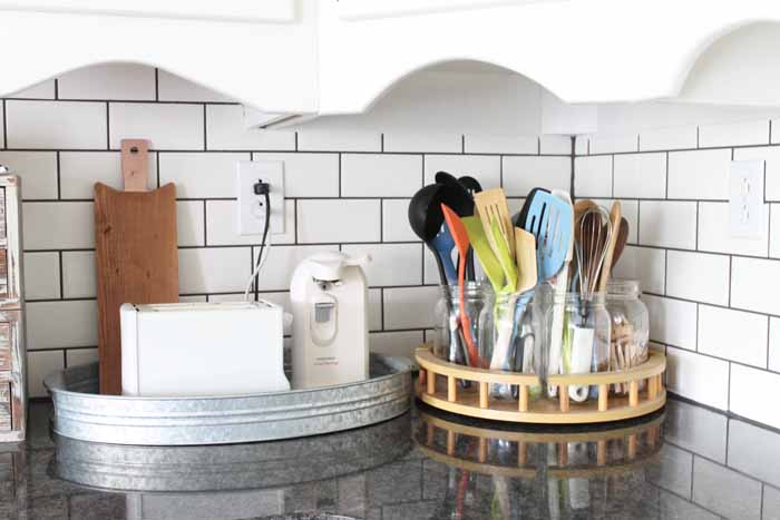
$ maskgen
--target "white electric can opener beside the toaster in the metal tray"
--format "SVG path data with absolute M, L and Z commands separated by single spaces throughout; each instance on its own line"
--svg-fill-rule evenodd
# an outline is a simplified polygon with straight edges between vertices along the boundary
M 369 376 L 367 256 L 319 253 L 293 273 L 293 387 L 311 389 Z

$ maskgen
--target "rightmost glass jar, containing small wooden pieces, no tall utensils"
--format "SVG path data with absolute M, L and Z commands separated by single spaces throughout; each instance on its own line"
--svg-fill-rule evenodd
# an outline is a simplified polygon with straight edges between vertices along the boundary
M 606 308 L 612 325 L 610 370 L 626 370 L 647 361 L 650 315 L 640 300 L 640 282 L 612 279 L 606 286 Z M 627 385 L 615 384 L 616 393 L 627 393 Z

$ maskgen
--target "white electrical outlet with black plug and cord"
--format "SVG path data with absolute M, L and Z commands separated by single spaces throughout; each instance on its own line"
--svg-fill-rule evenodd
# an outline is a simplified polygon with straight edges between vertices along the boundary
M 254 185 L 262 180 L 271 185 L 270 234 L 284 234 L 284 163 L 281 160 L 241 160 L 237 168 L 238 234 L 263 235 L 265 228 L 265 196 L 255 195 Z

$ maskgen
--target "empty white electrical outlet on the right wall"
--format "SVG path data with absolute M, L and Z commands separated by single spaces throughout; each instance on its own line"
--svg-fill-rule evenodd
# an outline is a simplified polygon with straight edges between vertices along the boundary
M 729 178 L 732 237 L 761 238 L 764 226 L 763 160 L 732 160 Z

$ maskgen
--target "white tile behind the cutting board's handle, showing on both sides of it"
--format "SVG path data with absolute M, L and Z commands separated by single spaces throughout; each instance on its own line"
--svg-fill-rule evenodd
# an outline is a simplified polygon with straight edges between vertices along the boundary
M 149 158 L 148 189 L 157 187 L 157 154 Z M 118 151 L 61 151 L 59 155 L 60 195 L 62 198 L 95 197 L 95 183 L 124 189 L 121 156 Z

